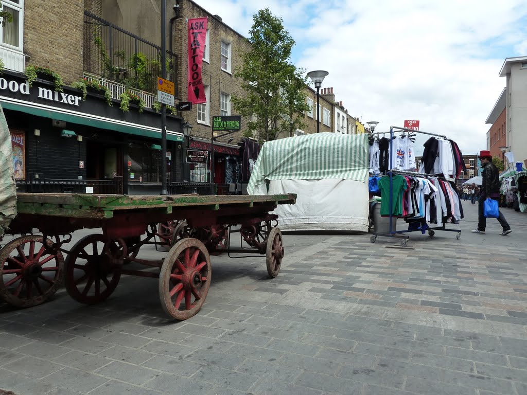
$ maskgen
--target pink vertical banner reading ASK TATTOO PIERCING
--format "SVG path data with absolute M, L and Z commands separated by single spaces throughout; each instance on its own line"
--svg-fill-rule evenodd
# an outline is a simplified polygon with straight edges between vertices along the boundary
M 201 78 L 201 67 L 203 65 L 203 52 L 207 37 L 207 18 L 189 19 L 188 24 L 188 88 L 187 100 L 193 104 L 206 103 L 205 89 Z

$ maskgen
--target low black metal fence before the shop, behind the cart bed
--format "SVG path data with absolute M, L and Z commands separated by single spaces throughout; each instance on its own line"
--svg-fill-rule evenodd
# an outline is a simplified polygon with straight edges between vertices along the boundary
M 123 177 L 113 180 L 17 179 L 17 192 L 122 194 Z

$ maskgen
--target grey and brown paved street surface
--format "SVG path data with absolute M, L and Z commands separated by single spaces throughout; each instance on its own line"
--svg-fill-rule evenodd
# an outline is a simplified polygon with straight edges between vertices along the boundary
M 285 234 L 265 259 L 212 256 L 195 317 L 172 322 L 154 279 L 123 276 L 99 305 L 64 290 L 41 306 L 0 305 L 0 388 L 33 394 L 527 393 L 525 214 L 472 234 Z M 399 223 L 399 229 L 402 223 Z M 159 254 L 150 250 L 140 256 Z

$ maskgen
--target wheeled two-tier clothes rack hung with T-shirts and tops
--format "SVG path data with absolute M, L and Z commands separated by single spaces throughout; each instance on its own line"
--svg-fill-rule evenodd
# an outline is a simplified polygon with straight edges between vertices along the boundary
M 403 135 L 394 137 L 394 133 L 403 132 Z M 408 134 L 406 134 L 408 133 Z M 423 133 L 432 135 L 423 145 L 423 161 L 420 172 L 411 171 L 415 168 L 414 147 L 410 138 L 412 133 Z M 438 138 L 442 137 L 442 138 Z M 383 137 L 384 138 L 384 137 Z M 370 176 L 368 186 L 370 193 L 372 188 L 378 186 L 382 203 L 380 215 L 389 218 L 389 233 L 374 233 L 370 241 L 375 242 L 378 235 L 388 237 L 401 237 L 401 245 L 406 245 L 408 236 L 402 233 L 421 231 L 423 234 L 433 236 L 434 230 L 457 232 L 459 239 L 461 231 L 457 229 L 446 229 L 446 223 L 458 224 L 463 218 L 461 199 L 457 193 L 457 187 L 452 179 L 458 177 L 462 171 L 466 172 L 463 155 L 452 140 L 446 136 L 422 131 L 414 131 L 404 127 L 392 126 L 390 139 L 387 144 L 379 140 L 379 171 L 383 173 L 386 169 L 387 175 L 378 179 L 376 175 Z M 383 152 L 384 145 L 388 146 L 388 152 Z M 370 153 L 375 150 L 370 148 Z M 387 156 L 389 165 L 381 165 L 380 158 Z M 375 170 L 371 166 L 370 169 Z M 375 163 L 375 161 L 374 161 Z M 392 221 L 397 218 L 408 222 L 408 230 L 395 231 Z M 431 228 L 428 223 L 441 224 Z

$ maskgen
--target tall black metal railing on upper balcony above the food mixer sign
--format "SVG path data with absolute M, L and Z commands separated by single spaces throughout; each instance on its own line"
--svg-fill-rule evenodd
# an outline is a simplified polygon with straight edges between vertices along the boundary
M 167 51 L 167 75 L 177 81 L 177 55 Z M 84 71 L 127 87 L 157 91 L 161 47 L 100 17 L 84 12 Z M 177 84 L 175 95 L 178 96 Z

